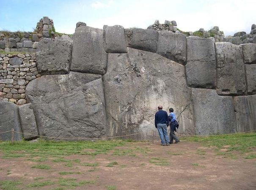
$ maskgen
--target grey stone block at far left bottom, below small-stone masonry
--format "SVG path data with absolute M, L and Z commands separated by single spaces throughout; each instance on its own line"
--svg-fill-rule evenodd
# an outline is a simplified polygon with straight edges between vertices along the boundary
M 19 122 L 19 111 L 16 104 L 11 102 L 0 102 L 0 140 L 11 141 L 11 132 L 3 133 L 8 130 L 22 132 Z M 21 141 L 22 134 L 14 133 L 14 140 Z

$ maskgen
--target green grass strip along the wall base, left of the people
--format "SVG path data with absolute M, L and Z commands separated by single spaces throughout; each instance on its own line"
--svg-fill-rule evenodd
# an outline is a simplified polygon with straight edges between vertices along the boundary
M 3 158 L 12 159 L 16 157 L 56 157 L 63 158 L 68 155 L 99 155 L 107 154 L 115 147 L 127 144 L 124 140 L 112 141 L 44 141 L 37 142 L 17 141 L 14 144 L 4 141 L 0 142 L 0 151 Z M 57 159 L 56 161 L 65 161 Z

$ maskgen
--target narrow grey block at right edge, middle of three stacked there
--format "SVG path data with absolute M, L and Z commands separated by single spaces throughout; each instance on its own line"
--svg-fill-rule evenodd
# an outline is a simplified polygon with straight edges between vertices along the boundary
M 245 64 L 247 94 L 256 94 L 256 64 Z

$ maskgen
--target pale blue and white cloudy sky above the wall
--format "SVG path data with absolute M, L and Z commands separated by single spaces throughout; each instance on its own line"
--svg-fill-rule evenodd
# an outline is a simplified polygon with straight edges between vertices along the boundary
M 250 33 L 256 24 L 256 0 L 0 0 L 0 30 L 32 31 L 43 16 L 55 30 L 74 33 L 78 21 L 87 26 L 119 24 L 147 28 L 175 20 L 183 31 L 219 26 L 225 35 Z

